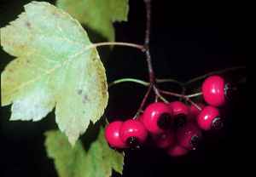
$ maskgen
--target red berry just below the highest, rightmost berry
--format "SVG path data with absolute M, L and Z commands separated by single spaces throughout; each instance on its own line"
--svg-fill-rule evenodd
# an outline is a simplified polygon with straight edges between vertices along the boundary
M 197 117 L 197 124 L 201 129 L 219 129 L 223 127 L 223 119 L 216 107 L 206 106 Z

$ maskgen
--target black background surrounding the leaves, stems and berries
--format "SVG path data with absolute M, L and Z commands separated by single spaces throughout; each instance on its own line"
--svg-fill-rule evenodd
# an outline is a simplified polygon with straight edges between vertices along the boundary
M 0 26 L 6 26 L 23 11 L 29 1 L 4 1 L 0 6 Z M 54 3 L 54 2 L 52 2 Z M 145 9 L 142 0 L 130 0 L 129 21 L 115 24 L 116 40 L 143 43 Z M 153 0 L 152 36 L 150 49 L 157 77 L 187 81 L 209 71 L 231 66 L 245 66 L 247 60 L 247 27 L 243 23 L 242 4 L 224 1 L 186 3 Z M 0 70 L 13 59 L 0 50 Z M 147 80 L 148 71 L 143 54 L 136 49 L 114 48 L 105 58 L 108 81 L 121 77 Z M 196 151 L 180 158 L 171 158 L 164 151 L 143 147 L 128 151 L 123 176 L 171 176 L 172 173 L 198 173 L 202 165 L 214 172 L 219 168 L 241 163 L 245 144 L 243 121 L 246 114 L 246 83 L 240 82 L 246 71 L 225 74 L 239 83 L 239 95 L 222 111 L 226 117 L 223 130 L 204 133 L 204 141 Z M 188 92 L 200 86 L 196 83 Z M 179 91 L 172 84 L 167 89 Z M 191 91 L 192 90 L 192 91 Z M 109 120 L 132 117 L 146 89 L 133 83 L 120 84 L 109 91 L 106 111 Z M 10 106 L 1 108 L 0 116 L 0 176 L 56 176 L 54 164 L 46 157 L 44 132 L 56 128 L 54 114 L 43 121 L 9 122 Z M 190 168 L 189 168 L 190 167 Z M 192 168 L 191 168 L 192 167 Z M 187 168 L 192 170 L 187 170 Z

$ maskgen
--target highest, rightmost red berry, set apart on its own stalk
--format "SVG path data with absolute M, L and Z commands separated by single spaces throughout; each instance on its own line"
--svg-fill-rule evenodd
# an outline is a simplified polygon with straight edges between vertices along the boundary
M 202 84 L 204 100 L 211 106 L 223 106 L 225 103 L 225 94 L 230 90 L 228 86 L 229 84 L 225 84 L 223 77 L 207 77 Z

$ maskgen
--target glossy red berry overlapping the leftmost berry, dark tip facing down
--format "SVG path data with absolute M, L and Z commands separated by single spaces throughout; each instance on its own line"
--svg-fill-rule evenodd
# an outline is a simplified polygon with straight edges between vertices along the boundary
M 120 137 L 127 146 L 137 147 L 147 139 L 148 131 L 138 120 L 127 120 L 120 128 Z

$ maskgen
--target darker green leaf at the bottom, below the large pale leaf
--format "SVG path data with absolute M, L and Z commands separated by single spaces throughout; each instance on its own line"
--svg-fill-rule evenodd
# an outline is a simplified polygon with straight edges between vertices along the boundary
M 74 147 L 70 146 L 59 131 L 49 131 L 46 137 L 48 156 L 54 159 L 60 177 L 108 177 L 112 169 L 122 174 L 124 157 L 109 148 L 103 128 L 88 150 L 80 141 Z

